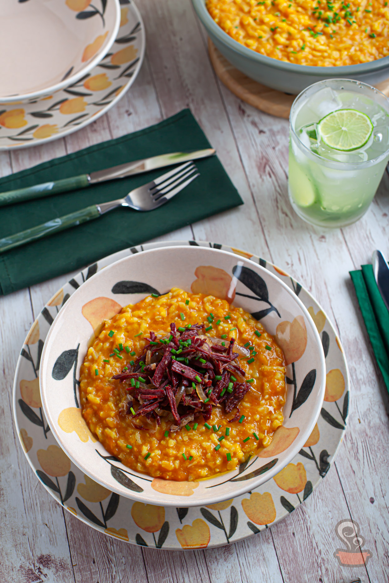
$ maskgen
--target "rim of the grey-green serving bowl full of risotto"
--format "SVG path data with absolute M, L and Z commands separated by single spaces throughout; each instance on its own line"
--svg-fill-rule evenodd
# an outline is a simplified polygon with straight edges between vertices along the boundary
M 212 16 L 206 9 L 205 1 L 206 0 L 192 0 L 192 5 L 194 6 L 195 12 L 197 13 L 197 16 L 201 20 L 202 24 L 204 24 L 205 28 L 211 29 L 212 34 L 218 38 L 220 43 L 227 45 L 227 47 L 229 47 L 232 51 L 240 53 L 250 61 L 257 62 L 258 64 L 267 65 L 273 69 L 279 69 L 279 71 L 283 72 L 299 73 L 300 75 L 313 75 L 323 79 L 339 76 L 345 76 L 347 78 L 348 75 L 358 73 L 373 73 L 376 71 L 381 71 L 381 69 L 385 69 L 386 67 L 389 68 L 389 56 L 381 57 L 375 61 L 369 61 L 367 63 L 360 63 L 357 65 L 324 67 L 299 65 L 297 63 L 279 61 L 278 59 L 267 57 L 266 55 L 261 55 L 259 52 L 253 51 L 253 49 L 238 43 L 238 41 L 230 37 L 229 34 L 227 34 L 218 24 L 216 24 L 215 20 L 213 20 Z

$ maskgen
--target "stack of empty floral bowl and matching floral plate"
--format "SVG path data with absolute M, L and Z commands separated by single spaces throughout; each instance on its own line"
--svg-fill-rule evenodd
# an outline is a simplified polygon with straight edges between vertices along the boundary
M 3 22 L 0 150 L 84 127 L 124 95 L 141 68 L 145 33 L 129 0 L 5 0 Z

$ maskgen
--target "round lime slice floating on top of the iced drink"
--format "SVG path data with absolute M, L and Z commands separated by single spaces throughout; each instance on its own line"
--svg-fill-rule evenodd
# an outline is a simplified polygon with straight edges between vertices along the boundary
M 332 111 L 317 125 L 323 142 L 334 150 L 351 152 L 365 146 L 373 131 L 370 118 L 357 110 Z

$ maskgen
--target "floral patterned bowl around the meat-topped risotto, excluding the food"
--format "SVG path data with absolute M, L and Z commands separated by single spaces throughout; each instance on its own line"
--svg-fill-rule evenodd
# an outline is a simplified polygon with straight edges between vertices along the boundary
M 48 332 L 40 364 L 40 390 L 50 429 L 72 461 L 95 482 L 122 496 L 163 506 L 215 504 L 253 490 L 279 473 L 314 429 L 325 391 L 325 360 L 316 325 L 297 295 L 250 259 L 204 247 L 162 247 L 134 254 L 88 274 Z M 217 277 L 215 277 L 217 275 Z M 129 470 L 97 441 L 79 408 L 80 364 L 103 319 L 149 293 L 171 287 L 225 299 L 233 276 L 234 305 L 276 336 L 286 357 L 284 423 L 269 447 L 223 476 L 199 482 L 152 479 Z M 87 305 L 87 310 L 83 307 Z M 186 497 L 183 501 L 182 497 Z

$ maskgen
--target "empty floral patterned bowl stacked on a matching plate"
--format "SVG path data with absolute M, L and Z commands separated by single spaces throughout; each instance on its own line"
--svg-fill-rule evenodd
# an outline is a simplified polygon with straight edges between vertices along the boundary
M 120 25 L 119 0 L 2 0 L 0 103 L 29 103 L 86 75 Z

